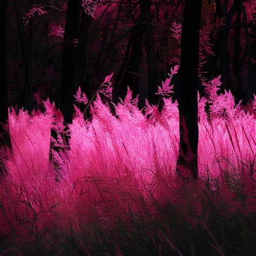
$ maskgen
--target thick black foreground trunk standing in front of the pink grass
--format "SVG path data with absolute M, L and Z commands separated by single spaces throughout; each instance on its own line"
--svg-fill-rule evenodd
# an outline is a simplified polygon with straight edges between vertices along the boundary
M 185 0 L 179 84 L 180 145 L 177 172 L 198 179 L 198 55 L 202 0 Z

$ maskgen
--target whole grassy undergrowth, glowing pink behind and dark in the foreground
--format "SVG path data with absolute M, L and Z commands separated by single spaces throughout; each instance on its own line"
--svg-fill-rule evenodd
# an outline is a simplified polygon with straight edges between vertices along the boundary
M 218 92 L 220 77 L 204 80 L 199 180 L 184 183 L 175 72 L 159 87 L 161 112 L 148 102 L 139 110 L 130 90 L 115 105 L 112 75 L 92 102 L 78 90 L 68 128 L 49 100 L 45 111 L 10 110 L 1 256 L 255 254 L 255 99 L 245 111 Z

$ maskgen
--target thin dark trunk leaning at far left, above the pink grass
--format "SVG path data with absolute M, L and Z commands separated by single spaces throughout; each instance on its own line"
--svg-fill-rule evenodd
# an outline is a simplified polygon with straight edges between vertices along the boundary
M 19 0 L 14 0 L 14 8 L 16 14 L 16 21 L 18 26 L 19 40 L 21 41 L 24 69 L 25 69 L 25 81 L 23 89 L 23 104 L 25 109 L 32 109 L 32 65 L 31 56 L 29 50 L 29 42 L 26 37 L 25 28 L 23 24 L 21 14 L 21 3 Z

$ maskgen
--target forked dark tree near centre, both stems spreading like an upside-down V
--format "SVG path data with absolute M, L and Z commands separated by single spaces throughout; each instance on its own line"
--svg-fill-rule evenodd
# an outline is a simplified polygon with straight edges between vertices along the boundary
M 143 54 L 143 39 L 147 58 L 147 98 L 152 104 L 157 104 L 157 58 L 154 45 L 153 23 L 151 17 L 151 1 L 139 1 L 139 18 L 133 27 L 129 42 L 127 44 L 124 60 L 117 76 L 118 95 L 124 98 L 129 86 L 133 95 L 139 91 L 139 69 Z

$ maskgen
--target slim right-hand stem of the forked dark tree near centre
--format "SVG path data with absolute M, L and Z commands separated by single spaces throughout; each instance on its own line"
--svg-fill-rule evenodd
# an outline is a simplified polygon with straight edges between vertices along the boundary
M 147 77 L 149 82 L 148 99 L 151 104 L 157 104 L 157 58 L 156 50 L 154 47 L 153 24 L 151 17 L 151 0 L 139 0 L 139 10 L 147 56 Z

